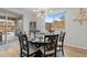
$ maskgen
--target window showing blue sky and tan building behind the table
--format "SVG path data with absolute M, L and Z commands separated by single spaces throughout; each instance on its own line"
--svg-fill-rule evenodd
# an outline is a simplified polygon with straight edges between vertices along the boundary
M 50 13 L 45 17 L 46 30 L 64 30 L 65 29 L 65 14 Z M 48 25 L 50 24 L 50 25 Z

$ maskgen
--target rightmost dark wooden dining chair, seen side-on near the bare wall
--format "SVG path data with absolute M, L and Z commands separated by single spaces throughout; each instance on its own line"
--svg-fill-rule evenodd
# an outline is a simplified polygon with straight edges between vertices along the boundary
M 57 52 L 62 51 L 62 55 L 64 56 L 64 40 L 65 40 L 65 33 L 66 32 L 63 32 L 61 31 L 61 34 L 59 34 L 59 39 L 58 39 L 58 43 L 57 43 Z

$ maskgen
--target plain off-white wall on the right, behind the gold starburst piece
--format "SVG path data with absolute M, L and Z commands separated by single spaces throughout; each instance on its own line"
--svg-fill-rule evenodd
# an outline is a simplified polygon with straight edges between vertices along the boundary
M 79 9 L 66 10 L 66 42 L 69 45 L 87 48 L 87 21 L 80 25 L 79 22 L 74 21 L 78 14 Z M 86 9 L 87 11 L 87 9 Z

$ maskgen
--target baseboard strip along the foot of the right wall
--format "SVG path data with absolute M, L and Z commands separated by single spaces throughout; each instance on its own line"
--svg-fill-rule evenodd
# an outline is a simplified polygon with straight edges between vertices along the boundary
M 87 48 L 75 46 L 75 45 L 66 44 L 65 48 L 74 50 L 74 51 L 81 52 L 81 53 L 87 53 Z

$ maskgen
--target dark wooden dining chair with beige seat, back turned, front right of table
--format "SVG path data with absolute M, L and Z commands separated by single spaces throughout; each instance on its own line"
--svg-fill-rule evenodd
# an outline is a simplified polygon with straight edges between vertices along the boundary
M 48 42 L 47 45 L 44 45 L 44 48 L 41 48 L 43 56 L 54 56 L 56 57 L 56 47 L 57 47 L 58 35 L 45 35 L 44 42 Z

